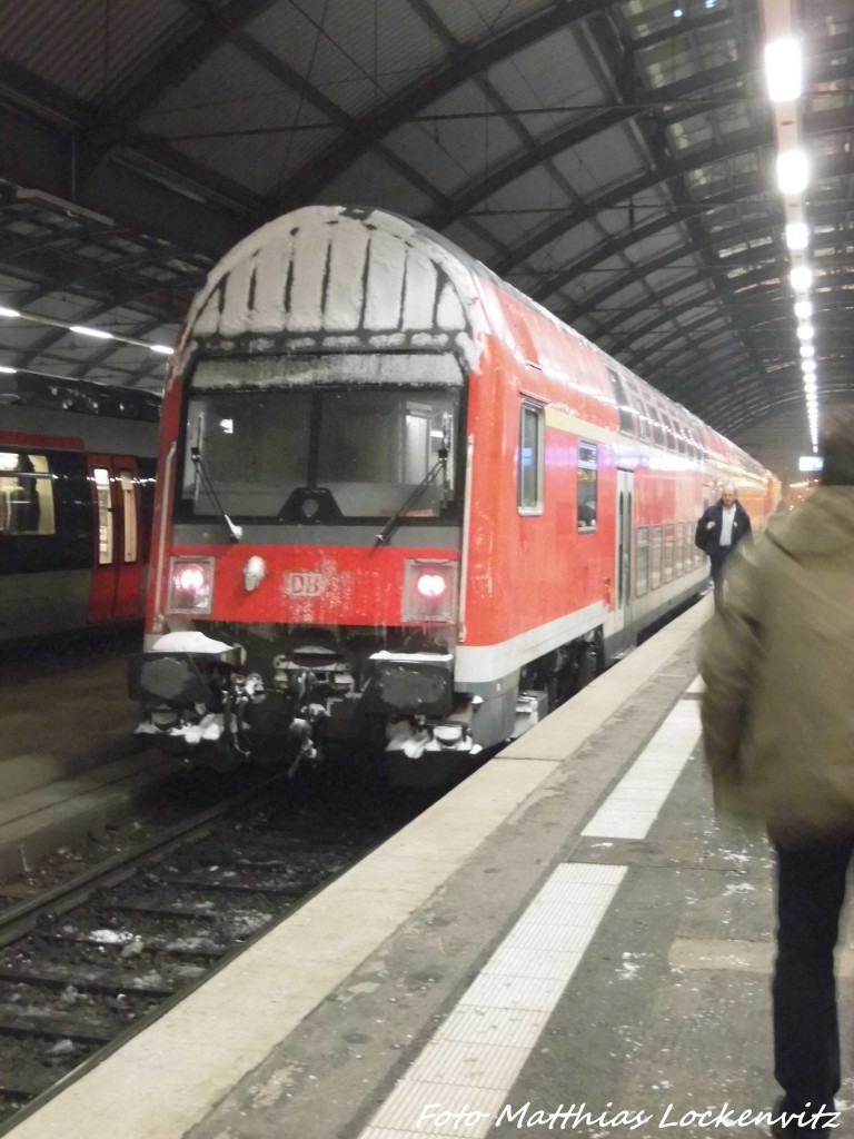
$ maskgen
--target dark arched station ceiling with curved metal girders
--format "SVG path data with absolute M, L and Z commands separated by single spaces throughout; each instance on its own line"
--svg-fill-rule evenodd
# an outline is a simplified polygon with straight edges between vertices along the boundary
M 238 238 L 378 205 L 786 473 L 810 436 L 769 6 L 805 50 L 820 407 L 854 402 L 852 0 L 6 0 L 0 364 L 157 390 L 125 341 L 172 342 Z

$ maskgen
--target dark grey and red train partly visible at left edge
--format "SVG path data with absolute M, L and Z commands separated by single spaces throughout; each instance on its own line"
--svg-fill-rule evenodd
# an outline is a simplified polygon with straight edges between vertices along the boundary
M 159 396 L 0 378 L 0 644 L 141 625 Z

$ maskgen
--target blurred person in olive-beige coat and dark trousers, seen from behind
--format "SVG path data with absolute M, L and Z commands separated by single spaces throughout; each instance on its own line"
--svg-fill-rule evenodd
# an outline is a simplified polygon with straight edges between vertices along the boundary
M 699 659 L 716 809 L 762 822 L 777 854 L 778 1136 L 835 1133 L 840 1084 L 834 948 L 854 853 L 854 415 L 821 450 L 812 497 L 730 560 Z

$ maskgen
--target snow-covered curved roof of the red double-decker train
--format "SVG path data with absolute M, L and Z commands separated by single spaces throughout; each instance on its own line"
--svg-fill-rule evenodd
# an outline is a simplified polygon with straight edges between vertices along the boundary
M 330 269 L 336 272 L 330 272 Z M 290 292 L 294 280 L 299 288 Z M 411 279 L 418 288 L 409 288 Z M 491 326 L 487 279 L 695 425 L 711 458 L 745 473 L 763 467 L 671 396 L 610 358 L 539 302 L 428 226 L 370 206 L 304 206 L 247 235 L 211 270 L 188 314 L 180 358 L 200 343 L 272 351 L 279 334 L 306 349 L 455 347 L 474 367 Z M 346 290 L 337 286 L 344 280 Z M 293 343 L 293 342 L 291 342 Z

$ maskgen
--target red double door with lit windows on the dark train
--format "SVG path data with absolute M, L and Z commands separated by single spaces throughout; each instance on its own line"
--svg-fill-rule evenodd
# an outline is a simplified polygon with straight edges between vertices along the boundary
M 141 535 L 137 461 L 89 456 L 93 550 L 89 620 L 128 620 L 142 613 Z

